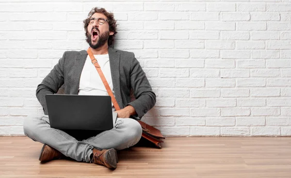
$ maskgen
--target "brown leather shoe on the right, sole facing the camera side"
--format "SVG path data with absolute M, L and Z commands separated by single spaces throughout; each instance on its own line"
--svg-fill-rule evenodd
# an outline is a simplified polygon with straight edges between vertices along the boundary
M 117 152 L 114 148 L 98 150 L 93 148 L 93 158 L 91 162 L 96 164 L 105 165 L 109 169 L 115 169 L 117 167 Z

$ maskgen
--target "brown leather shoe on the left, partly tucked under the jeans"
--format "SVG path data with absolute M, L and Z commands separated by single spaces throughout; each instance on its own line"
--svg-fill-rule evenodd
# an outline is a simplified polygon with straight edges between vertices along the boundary
M 65 158 L 65 155 L 63 155 L 60 151 L 46 144 L 41 149 L 40 155 L 39 155 L 39 161 L 41 162 L 48 162 L 51 160 L 57 160 L 57 159 L 62 159 L 62 158 Z

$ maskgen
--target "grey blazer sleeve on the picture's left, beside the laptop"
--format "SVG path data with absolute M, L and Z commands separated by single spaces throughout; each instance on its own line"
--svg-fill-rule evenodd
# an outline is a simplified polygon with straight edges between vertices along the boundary
M 46 115 L 48 115 L 48 108 L 45 96 L 47 94 L 57 93 L 59 88 L 64 84 L 65 55 L 66 52 L 64 52 L 63 57 L 36 88 L 36 97 Z

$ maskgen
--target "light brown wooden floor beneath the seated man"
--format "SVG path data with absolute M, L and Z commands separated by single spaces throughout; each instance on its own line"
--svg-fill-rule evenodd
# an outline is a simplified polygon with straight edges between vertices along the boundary
M 115 170 L 94 163 L 41 164 L 42 144 L 0 137 L 0 178 L 291 178 L 291 137 L 167 137 L 162 149 L 118 152 Z

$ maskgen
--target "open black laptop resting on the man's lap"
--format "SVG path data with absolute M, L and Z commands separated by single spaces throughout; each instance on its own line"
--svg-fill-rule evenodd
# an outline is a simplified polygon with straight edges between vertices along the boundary
M 110 130 L 117 113 L 110 96 L 47 94 L 51 128 L 62 130 Z

